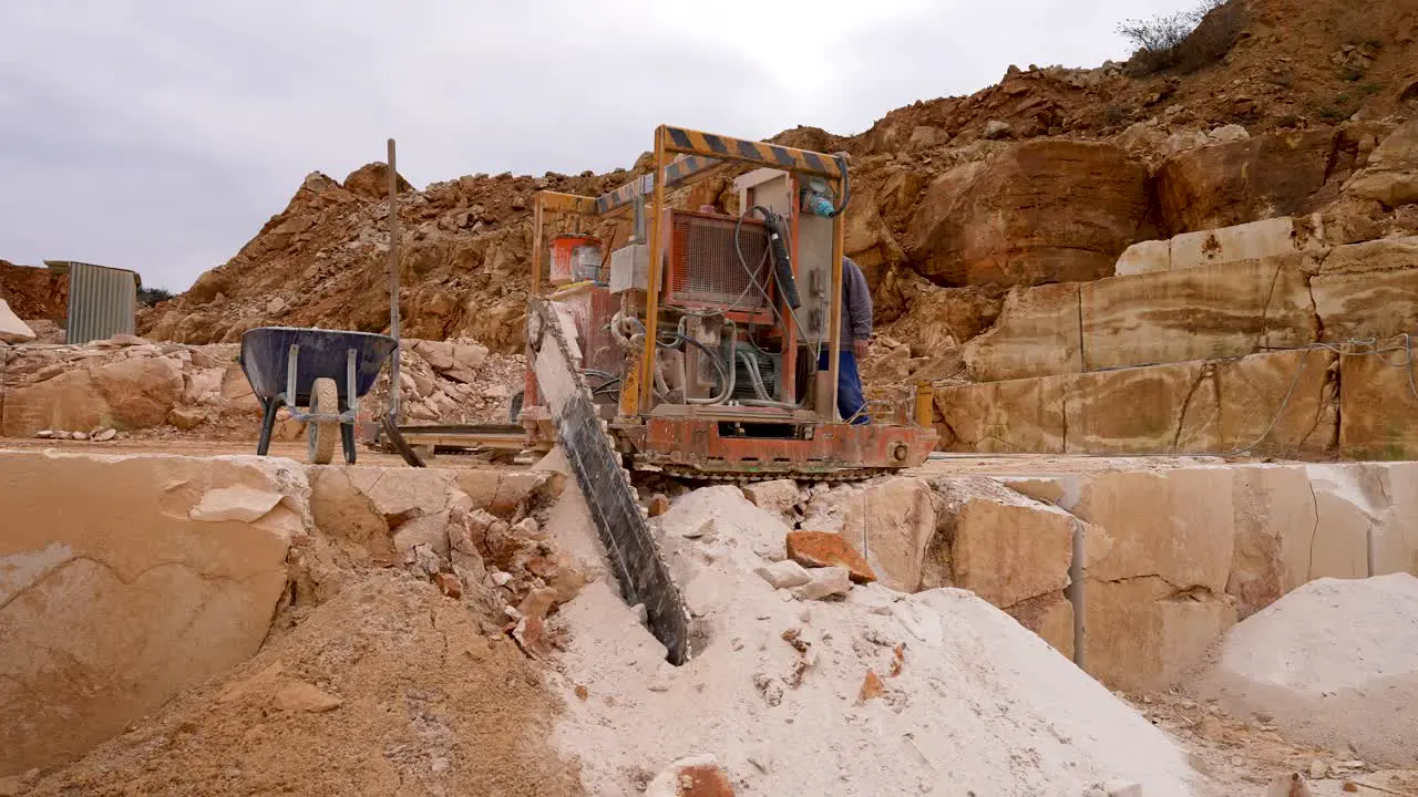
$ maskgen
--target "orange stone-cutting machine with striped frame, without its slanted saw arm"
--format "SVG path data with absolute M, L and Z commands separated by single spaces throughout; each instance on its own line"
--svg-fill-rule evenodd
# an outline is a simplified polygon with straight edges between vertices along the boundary
M 560 408 L 542 370 L 556 357 L 632 469 L 856 479 L 922 464 L 929 386 L 910 407 L 872 407 L 869 424 L 837 413 L 847 156 L 672 126 L 652 155 L 654 172 L 604 196 L 536 194 L 513 420 L 552 441 Z M 672 189 L 735 165 L 753 167 L 735 180 L 736 211 L 675 207 L 686 191 Z M 601 245 L 553 225 L 615 233 Z

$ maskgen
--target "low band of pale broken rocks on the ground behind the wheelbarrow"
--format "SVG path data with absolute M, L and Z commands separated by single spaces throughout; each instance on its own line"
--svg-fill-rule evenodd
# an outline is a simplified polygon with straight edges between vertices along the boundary
M 240 346 L 152 343 L 121 335 L 85 346 L 0 347 L 0 434 L 105 441 L 129 434 L 255 440 L 261 406 L 237 357 Z M 411 423 L 505 421 L 522 390 L 520 355 L 489 355 L 474 340 L 406 340 L 400 381 Z M 389 369 L 362 400 L 389 406 Z M 278 440 L 303 424 L 281 416 Z

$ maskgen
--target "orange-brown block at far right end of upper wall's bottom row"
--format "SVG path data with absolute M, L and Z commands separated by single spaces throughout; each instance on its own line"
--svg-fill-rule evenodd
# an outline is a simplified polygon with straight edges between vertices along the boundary
M 1391 364 L 1407 357 L 1401 339 L 1380 347 L 1398 350 L 1340 357 L 1340 452 L 1346 459 L 1418 459 L 1418 424 L 1412 423 L 1418 413 L 1412 369 L 1418 364 Z

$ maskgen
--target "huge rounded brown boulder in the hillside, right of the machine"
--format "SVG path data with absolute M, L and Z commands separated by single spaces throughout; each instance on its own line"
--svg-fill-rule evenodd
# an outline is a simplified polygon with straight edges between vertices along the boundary
M 908 252 L 947 285 L 1095 279 L 1143 225 L 1146 182 L 1113 145 L 1015 145 L 937 177 L 910 218 Z

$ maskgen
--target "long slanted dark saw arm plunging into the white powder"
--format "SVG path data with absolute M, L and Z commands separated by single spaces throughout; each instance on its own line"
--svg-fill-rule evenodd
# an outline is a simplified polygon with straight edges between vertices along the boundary
M 615 442 L 596 413 L 562 321 L 545 299 L 533 298 L 527 308 L 527 343 L 537 389 L 552 410 L 621 594 L 625 603 L 645 607 L 649 630 L 668 650 L 669 662 L 683 664 L 692 654 L 689 611 L 645 522 L 630 472 L 621 468 Z

